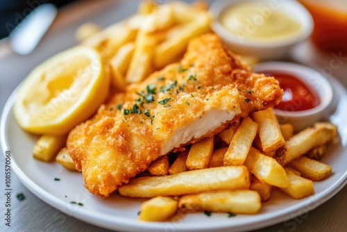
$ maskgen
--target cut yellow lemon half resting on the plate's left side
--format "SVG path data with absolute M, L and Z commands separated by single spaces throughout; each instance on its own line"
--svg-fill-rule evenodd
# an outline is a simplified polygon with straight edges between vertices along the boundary
M 90 117 L 108 94 L 99 53 L 74 47 L 38 65 L 19 87 L 14 115 L 35 134 L 63 135 Z

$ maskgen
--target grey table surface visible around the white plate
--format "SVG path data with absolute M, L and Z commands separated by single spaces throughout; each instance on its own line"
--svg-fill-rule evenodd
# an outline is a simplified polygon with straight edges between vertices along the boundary
M 54 53 L 76 44 L 74 31 L 83 22 L 90 21 L 96 22 L 101 26 L 108 26 L 112 22 L 123 19 L 129 13 L 134 13 L 136 8 L 137 1 L 129 4 L 125 0 L 72 3 L 59 10 L 53 26 L 51 26 L 49 32 L 31 55 L 19 56 L 10 51 L 6 40 L 0 42 L 0 108 L 3 108 L 12 90 L 22 81 L 32 67 L 35 67 L 35 65 L 38 65 Z M 112 14 L 115 9 L 117 9 L 117 14 Z M 49 46 L 46 43 L 47 40 L 50 40 L 49 44 L 53 40 L 56 42 L 56 46 Z M 305 47 L 307 49 L 305 44 L 303 47 L 303 49 Z M 319 60 L 314 60 L 316 56 L 308 58 L 311 59 L 306 65 L 316 68 L 323 68 L 325 65 L 328 65 L 330 60 L 328 57 Z M 335 69 L 332 72 L 335 77 L 339 78 L 341 83 L 344 83 L 345 87 L 347 86 L 347 77 L 344 78 L 347 73 L 345 72 L 346 69 L 347 64 L 344 63 L 339 69 Z M 0 170 L 3 170 L 5 166 L 4 161 L 1 155 Z M 4 172 L 1 171 L 0 186 L 5 185 L 4 181 Z M 0 231 L 108 231 L 65 215 L 56 208 L 44 203 L 44 201 L 35 197 L 34 194 L 27 190 L 15 174 L 11 176 L 11 183 L 13 193 L 18 194 L 22 192 L 25 199 L 24 201 L 18 201 L 15 197 L 12 197 L 12 205 L 10 206 L 12 210 L 11 226 L 6 226 L 3 219 L 1 219 Z M 4 194 L 5 190 L 1 194 L 1 215 L 5 213 L 5 208 L 3 207 L 6 202 Z M 347 186 L 332 199 L 304 215 L 299 215 L 286 222 L 256 231 L 346 231 L 346 215 Z

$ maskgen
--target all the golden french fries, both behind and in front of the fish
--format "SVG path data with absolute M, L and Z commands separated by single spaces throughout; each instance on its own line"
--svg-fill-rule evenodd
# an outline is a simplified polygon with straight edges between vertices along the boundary
M 210 20 L 205 3 L 159 6 L 144 1 L 136 15 L 103 30 L 83 25 L 76 36 L 99 51 L 112 88 L 122 91 L 179 60 L 191 38 L 210 31 Z M 294 199 L 314 194 L 312 181 L 332 172 L 319 158 L 336 135 L 337 127 L 330 122 L 294 134 L 293 126 L 279 124 L 268 108 L 240 119 L 214 138 L 158 158 L 118 191 L 125 197 L 151 198 L 140 209 L 139 219 L 144 221 L 166 221 L 178 210 L 257 213 L 275 188 Z M 73 160 L 62 148 L 65 141 L 66 136 L 43 135 L 33 156 L 56 159 L 74 171 Z

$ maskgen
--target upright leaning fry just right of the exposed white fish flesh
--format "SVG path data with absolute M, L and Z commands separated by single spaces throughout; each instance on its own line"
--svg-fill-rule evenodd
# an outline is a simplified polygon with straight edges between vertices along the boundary
M 257 123 L 250 117 L 245 117 L 235 132 L 229 144 L 228 151 L 223 158 L 224 166 L 243 165 L 244 160 L 252 146 L 253 139 L 257 134 Z

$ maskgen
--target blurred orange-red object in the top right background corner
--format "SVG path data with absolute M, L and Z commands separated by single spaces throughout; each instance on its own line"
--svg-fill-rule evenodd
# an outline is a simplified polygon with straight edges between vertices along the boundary
M 323 51 L 347 56 L 347 1 L 300 0 L 314 20 L 312 42 Z

